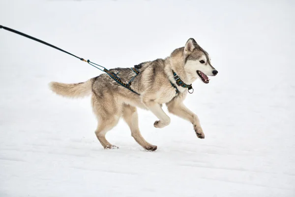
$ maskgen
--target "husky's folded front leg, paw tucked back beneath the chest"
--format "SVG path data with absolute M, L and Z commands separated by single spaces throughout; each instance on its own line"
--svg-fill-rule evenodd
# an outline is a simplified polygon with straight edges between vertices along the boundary
M 170 124 L 169 116 L 163 111 L 161 104 L 148 100 L 144 102 L 148 109 L 159 119 L 154 123 L 155 128 L 163 128 Z

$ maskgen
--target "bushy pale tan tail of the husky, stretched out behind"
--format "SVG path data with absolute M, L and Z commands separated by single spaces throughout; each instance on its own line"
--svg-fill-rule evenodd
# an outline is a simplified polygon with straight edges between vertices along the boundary
M 93 78 L 83 83 L 50 82 L 50 89 L 58 95 L 70 98 L 85 97 L 91 94 Z

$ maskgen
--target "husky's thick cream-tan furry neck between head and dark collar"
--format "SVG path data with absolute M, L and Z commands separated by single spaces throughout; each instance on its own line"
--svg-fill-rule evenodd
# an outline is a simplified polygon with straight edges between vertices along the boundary
M 180 79 L 186 84 L 192 84 L 197 78 L 194 76 L 190 76 L 190 74 L 185 72 L 184 69 L 184 55 L 183 55 L 184 47 L 176 49 L 171 56 L 166 58 L 167 66 L 165 67 L 165 73 L 171 82 L 175 83 L 175 79 L 173 77 L 172 70 L 176 72 L 176 74 L 180 77 Z

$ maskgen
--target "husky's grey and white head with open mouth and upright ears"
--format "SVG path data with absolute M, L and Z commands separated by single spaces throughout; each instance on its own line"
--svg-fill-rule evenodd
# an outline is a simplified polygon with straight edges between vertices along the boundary
M 203 50 L 194 38 L 189 38 L 184 47 L 184 69 L 191 78 L 200 78 L 209 83 L 209 76 L 215 76 L 218 71 L 211 65 L 208 53 Z

